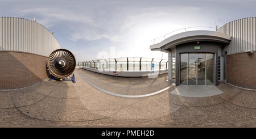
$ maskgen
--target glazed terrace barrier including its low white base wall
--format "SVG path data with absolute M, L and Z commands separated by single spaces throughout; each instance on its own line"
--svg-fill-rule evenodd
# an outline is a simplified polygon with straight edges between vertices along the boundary
M 125 57 L 79 62 L 79 68 L 116 77 L 157 77 L 168 73 L 168 60 Z

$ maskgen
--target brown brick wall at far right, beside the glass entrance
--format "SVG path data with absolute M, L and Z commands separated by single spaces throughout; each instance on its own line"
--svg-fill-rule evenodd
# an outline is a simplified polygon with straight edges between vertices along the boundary
M 256 52 L 226 56 L 226 82 L 256 89 Z

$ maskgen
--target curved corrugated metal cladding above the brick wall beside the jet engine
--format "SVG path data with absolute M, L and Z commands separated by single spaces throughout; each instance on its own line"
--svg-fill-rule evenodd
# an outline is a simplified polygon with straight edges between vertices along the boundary
M 0 18 L 0 50 L 35 53 L 48 57 L 60 44 L 46 27 L 23 18 Z

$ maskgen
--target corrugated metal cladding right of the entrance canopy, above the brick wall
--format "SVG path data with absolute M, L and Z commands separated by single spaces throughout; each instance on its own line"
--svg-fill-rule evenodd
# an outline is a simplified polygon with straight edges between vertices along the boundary
M 255 48 L 255 22 L 256 18 L 243 18 L 229 22 L 219 28 L 217 32 L 222 32 L 232 36 L 230 44 L 222 48 L 222 55 L 245 52 L 245 50 L 256 50 Z

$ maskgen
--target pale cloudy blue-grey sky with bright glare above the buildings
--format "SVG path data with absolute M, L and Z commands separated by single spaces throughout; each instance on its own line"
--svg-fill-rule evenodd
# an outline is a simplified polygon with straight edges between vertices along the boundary
M 233 20 L 256 16 L 255 0 L 0 0 L 0 3 L 1 16 L 35 18 L 53 32 L 61 48 L 76 56 L 77 62 L 114 57 L 168 59 L 167 53 L 151 51 L 150 45 L 175 33 L 214 31 L 216 25 L 219 28 Z

